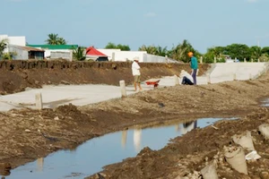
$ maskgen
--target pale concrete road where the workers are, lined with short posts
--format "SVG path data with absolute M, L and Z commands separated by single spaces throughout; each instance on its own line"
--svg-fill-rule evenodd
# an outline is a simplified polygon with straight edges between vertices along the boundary
M 233 81 L 234 73 L 238 80 L 248 80 L 249 73 L 256 77 L 259 72 L 265 72 L 265 63 L 233 63 L 215 64 L 213 72 L 210 74 L 211 82 Z M 175 86 L 174 76 L 152 79 L 148 81 L 160 81 L 160 88 L 165 86 Z M 207 84 L 206 75 L 197 78 L 197 84 Z M 143 90 L 153 90 L 152 86 L 142 83 Z M 134 94 L 134 87 L 127 86 L 127 95 Z M 42 94 L 43 107 L 55 108 L 61 105 L 72 103 L 75 106 L 84 106 L 111 98 L 121 98 L 121 89 L 117 86 L 109 85 L 58 85 L 44 86 L 43 89 L 29 89 L 20 93 L 0 96 L 0 111 L 8 111 L 12 108 L 35 107 L 35 96 Z

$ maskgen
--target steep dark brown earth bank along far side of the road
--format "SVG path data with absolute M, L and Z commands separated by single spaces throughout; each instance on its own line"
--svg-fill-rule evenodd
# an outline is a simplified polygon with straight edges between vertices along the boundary
M 131 63 L 127 62 L 67 62 L 67 61 L 0 61 L 0 93 L 8 94 L 41 88 L 44 84 L 109 84 L 133 81 Z M 141 64 L 142 80 L 190 71 L 189 64 Z M 209 68 L 200 65 L 200 75 Z

